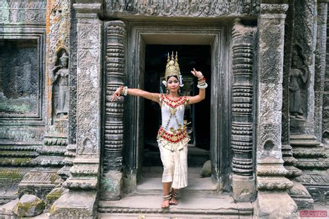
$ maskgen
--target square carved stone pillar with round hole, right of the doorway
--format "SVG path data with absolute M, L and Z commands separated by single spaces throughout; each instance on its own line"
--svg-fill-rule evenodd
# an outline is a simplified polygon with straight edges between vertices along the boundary
M 269 1 L 267 1 L 269 2 Z M 276 2 L 276 1 L 271 1 Z M 287 194 L 281 151 L 285 3 L 261 3 L 258 17 L 258 125 L 255 216 L 291 218 L 297 206 Z

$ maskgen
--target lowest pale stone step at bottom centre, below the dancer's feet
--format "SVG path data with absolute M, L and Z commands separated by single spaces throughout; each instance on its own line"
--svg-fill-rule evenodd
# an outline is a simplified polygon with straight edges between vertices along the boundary
M 99 218 L 128 217 L 216 217 L 216 218 L 252 218 L 251 202 L 235 203 L 228 194 L 216 197 L 195 197 L 183 195 L 179 204 L 169 209 L 161 209 L 162 195 L 131 195 L 118 201 L 99 202 Z

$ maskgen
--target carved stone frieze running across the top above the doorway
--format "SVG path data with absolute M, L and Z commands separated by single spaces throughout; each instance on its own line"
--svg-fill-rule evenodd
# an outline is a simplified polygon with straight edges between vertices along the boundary
M 147 16 L 147 17 L 218 17 L 237 15 L 257 15 L 257 0 L 178 0 L 178 1 L 105 1 L 107 17 Z

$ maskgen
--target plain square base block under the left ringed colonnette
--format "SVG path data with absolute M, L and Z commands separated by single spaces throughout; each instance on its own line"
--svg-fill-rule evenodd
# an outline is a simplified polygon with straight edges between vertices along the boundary
M 119 200 L 122 197 L 123 175 L 119 171 L 104 173 L 101 177 L 101 200 Z

